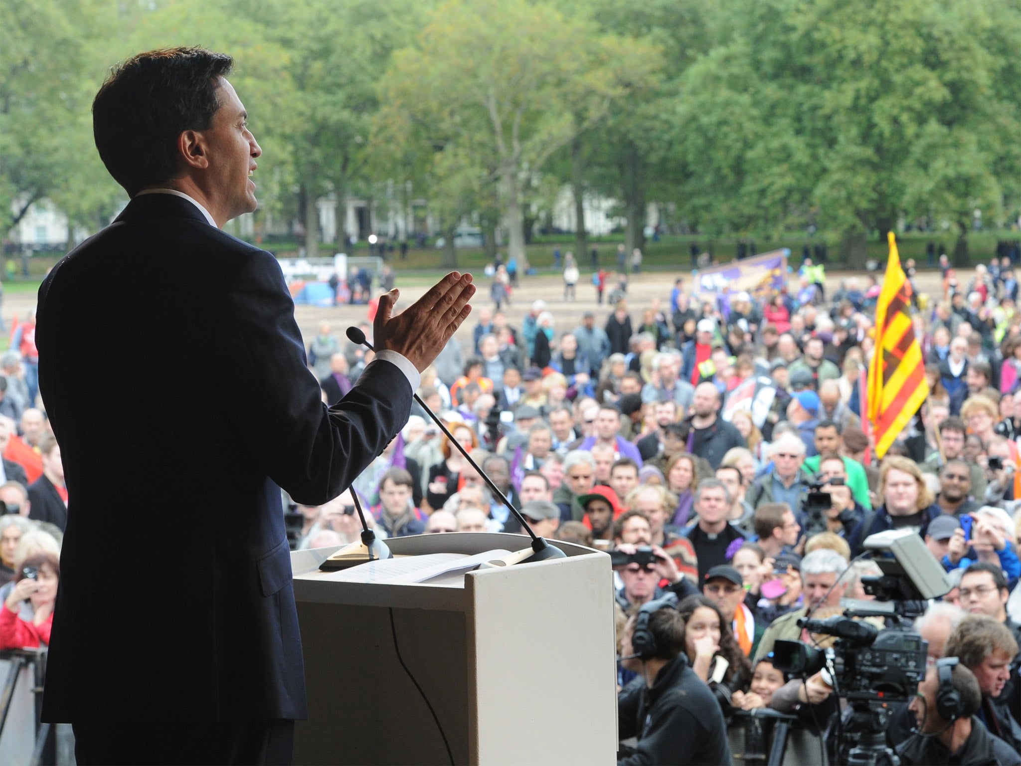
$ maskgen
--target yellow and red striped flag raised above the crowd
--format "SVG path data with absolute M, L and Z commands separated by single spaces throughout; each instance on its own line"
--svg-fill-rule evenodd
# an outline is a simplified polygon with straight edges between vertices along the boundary
M 876 346 L 869 366 L 866 409 L 880 459 L 929 395 L 922 347 L 908 314 L 911 283 L 901 268 L 893 232 L 889 244 L 886 277 L 876 303 Z

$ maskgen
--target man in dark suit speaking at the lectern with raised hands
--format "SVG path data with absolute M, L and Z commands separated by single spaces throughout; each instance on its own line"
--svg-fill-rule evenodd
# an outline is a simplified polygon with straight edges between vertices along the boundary
M 231 65 L 174 49 L 113 71 L 94 133 L 131 202 L 39 291 L 75 500 L 43 716 L 74 724 L 81 764 L 290 762 L 306 706 L 281 487 L 309 506 L 340 494 L 471 312 L 470 275 L 397 316 L 383 294 L 376 361 L 322 402 L 279 264 L 220 231 L 255 209 L 261 153 Z

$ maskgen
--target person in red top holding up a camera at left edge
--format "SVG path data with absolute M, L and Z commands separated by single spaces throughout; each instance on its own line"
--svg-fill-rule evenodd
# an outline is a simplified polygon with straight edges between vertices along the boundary
M 50 642 L 60 560 L 50 553 L 31 556 L 17 569 L 17 582 L 0 610 L 0 649 L 37 648 Z M 31 614 L 21 615 L 29 602 Z

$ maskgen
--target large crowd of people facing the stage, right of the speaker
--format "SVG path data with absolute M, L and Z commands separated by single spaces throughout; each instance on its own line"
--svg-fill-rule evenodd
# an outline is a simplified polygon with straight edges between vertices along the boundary
M 566 268 L 570 302 L 573 257 Z M 483 307 L 468 353 L 451 341 L 423 374 L 422 398 L 536 533 L 627 559 L 622 763 L 728 762 L 728 728 L 757 708 L 825 739 L 840 716 L 831 683 L 785 676 L 775 641 L 824 640 L 797 620 L 870 599 L 864 540 L 911 529 L 954 587 L 918 621 L 930 669 L 889 746 L 904 763 L 1021 764 L 1017 282 L 1006 258 L 967 280 L 942 268 L 943 294 L 916 290 L 912 305 L 929 397 L 882 460 L 861 400 L 878 283 L 826 294 L 811 261 L 789 290 L 707 297 L 677 279 L 641 312 L 617 296 L 567 332 L 541 300 L 520 327 Z M 371 358 L 330 350 L 317 352 L 328 402 Z M 813 482 L 823 513 L 807 513 Z M 425 413 L 350 491 L 383 535 L 521 531 Z M 357 539 L 349 492 L 298 511 L 302 545 Z M 963 702 L 947 718 L 934 700 L 950 686 Z

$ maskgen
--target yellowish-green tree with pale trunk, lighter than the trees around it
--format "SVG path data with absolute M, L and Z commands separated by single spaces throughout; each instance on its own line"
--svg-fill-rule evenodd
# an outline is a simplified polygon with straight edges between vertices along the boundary
M 604 47 L 588 18 L 549 4 L 449 0 L 395 55 L 384 81 L 389 111 L 428 123 L 444 147 L 456 145 L 478 167 L 491 158 L 508 256 L 523 265 L 526 184 L 616 94 L 598 66 Z

